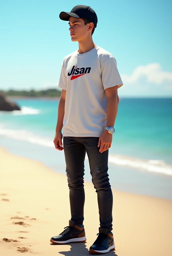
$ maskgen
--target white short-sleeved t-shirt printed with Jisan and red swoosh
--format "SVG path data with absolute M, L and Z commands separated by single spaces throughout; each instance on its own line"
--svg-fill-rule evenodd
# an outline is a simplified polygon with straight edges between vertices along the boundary
M 105 89 L 123 85 L 114 56 L 99 47 L 67 55 L 58 87 L 66 90 L 63 137 L 100 137 L 106 127 Z

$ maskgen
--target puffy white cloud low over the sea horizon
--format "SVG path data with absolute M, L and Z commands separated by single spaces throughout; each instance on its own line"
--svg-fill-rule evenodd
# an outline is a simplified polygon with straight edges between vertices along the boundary
M 162 70 L 159 63 L 149 63 L 134 69 L 131 75 L 121 74 L 122 96 L 171 96 L 172 72 Z

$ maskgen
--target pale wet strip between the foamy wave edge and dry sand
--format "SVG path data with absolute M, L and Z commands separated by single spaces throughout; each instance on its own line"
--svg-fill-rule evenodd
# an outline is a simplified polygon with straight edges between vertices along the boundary
M 64 153 L 57 152 L 53 145 L 52 147 L 46 147 L 30 143 L 30 139 L 31 138 L 28 137 L 28 141 L 23 141 L 0 135 L 0 147 L 6 148 L 6 150 L 12 154 L 40 161 L 56 173 L 66 174 Z M 108 174 L 112 188 L 126 193 L 172 200 L 171 176 L 139 170 L 137 168 L 132 168 L 131 166 L 116 165 L 110 160 L 110 157 L 111 154 L 109 154 Z M 84 180 L 92 183 L 87 154 L 85 156 L 84 164 Z

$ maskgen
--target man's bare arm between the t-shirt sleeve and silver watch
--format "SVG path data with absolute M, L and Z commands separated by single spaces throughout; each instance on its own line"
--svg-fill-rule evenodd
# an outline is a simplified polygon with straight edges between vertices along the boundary
M 107 111 L 106 126 L 107 127 L 109 127 L 109 126 L 114 127 L 114 124 L 115 124 L 117 111 L 118 111 L 118 104 L 119 104 L 119 97 L 118 97 L 117 89 L 118 89 L 117 85 L 105 89 L 105 93 L 107 96 L 107 108 L 106 108 L 106 111 Z

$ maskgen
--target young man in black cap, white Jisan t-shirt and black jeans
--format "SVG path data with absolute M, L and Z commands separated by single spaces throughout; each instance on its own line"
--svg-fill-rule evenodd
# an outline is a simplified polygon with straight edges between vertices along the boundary
M 115 131 L 117 89 L 123 82 L 114 56 L 92 40 L 98 21 L 94 10 L 77 5 L 70 13 L 61 12 L 60 19 L 69 21 L 71 40 L 78 41 L 79 49 L 62 62 L 58 85 L 62 93 L 54 138 L 56 149 L 64 149 L 71 219 L 67 229 L 50 241 L 57 244 L 86 241 L 83 176 L 87 152 L 100 216 L 98 237 L 89 252 L 107 253 L 115 248 L 111 231 L 113 196 L 107 174 L 108 151 Z

